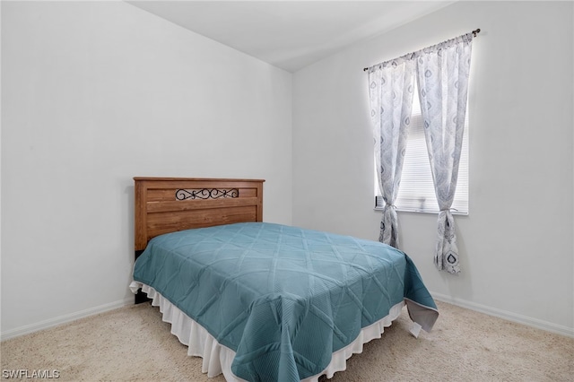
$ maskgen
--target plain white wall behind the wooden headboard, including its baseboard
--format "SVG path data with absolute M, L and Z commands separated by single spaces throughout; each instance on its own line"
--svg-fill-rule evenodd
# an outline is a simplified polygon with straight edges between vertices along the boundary
M 291 77 L 123 2 L 3 1 L 3 338 L 133 299 L 135 176 L 265 178 L 291 223 Z

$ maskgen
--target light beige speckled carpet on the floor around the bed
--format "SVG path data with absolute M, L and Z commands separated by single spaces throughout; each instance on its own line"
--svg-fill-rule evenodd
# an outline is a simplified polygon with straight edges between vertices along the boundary
M 437 302 L 430 334 L 409 334 L 406 308 L 330 381 L 573 381 L 574 339 Z M 57 369 L 61 381 L 211 381 L 201 359 L 141 304 L 0 344 L 2 370 Z M 320 381 L 328 381 L 320 378 Z

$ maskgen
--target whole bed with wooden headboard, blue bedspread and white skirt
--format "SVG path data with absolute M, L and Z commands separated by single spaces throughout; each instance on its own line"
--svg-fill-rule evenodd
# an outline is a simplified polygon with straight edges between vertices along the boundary
M 412 260 L 376 241 L 263 221 L 261 179 L 135 178 L 136 302 L 159 306 L 208 377 L 317 381 L 406 305 L 439 313 Z

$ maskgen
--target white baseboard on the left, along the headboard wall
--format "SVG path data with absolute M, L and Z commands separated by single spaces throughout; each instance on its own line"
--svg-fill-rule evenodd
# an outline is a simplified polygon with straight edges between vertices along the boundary
M 0 341 L 8 340 L 14 337 L 19 337 L 24 334 L 38 332 L 39 330 L 48 329 L 49 327 L 60 326 L 62 324 L 67 324 L 71 321 L 75 321 L 83 317 L 94 316 L 103 312 L 107 312 L 109 310 L 123 308 L 126 307 L 127 305 L 132 304 L 134 304 L 134 298 L 130 297 L 126 298 L 125 300 L 118 300 L 115 302 L 110 302 L 109 304 L 100 305 L 99 307 L 80 310 L 79 312 L 71 313 L 69 315 L 50 318 L 45 321 L 40 321 L 39 323 L 36 324 L 16 327 L 14 329 L 2 332 L 0 334 Z

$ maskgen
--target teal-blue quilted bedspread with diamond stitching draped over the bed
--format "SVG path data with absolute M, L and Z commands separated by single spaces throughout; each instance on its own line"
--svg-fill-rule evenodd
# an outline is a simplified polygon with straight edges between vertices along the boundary
M 438 316 L 413 262 L 396 248 L 271 223 L 161 235 L 136 261 L 134 280 L 235 351 L 231 370 L 248 381 L 316 375 L 332 352 L 405 299 L 416 303 L 410 314 L 425 330 Z

